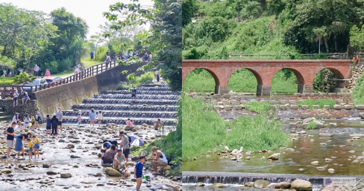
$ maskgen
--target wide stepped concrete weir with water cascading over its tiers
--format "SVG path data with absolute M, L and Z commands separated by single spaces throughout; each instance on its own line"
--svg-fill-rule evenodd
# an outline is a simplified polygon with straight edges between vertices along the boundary
M 134 120 L 134 125 L 153 125 L 152 121 L 157 119 L 166 126 L 175 123 L 175 105 L 181 92 L 172 92 L 165 84 L 146 84 L 135 89 L 136 101 L 131 100 L 131 92 L 126 88 L 104 91 L 103 94 L 83 100 L 82 104 L 73 105 L 72 110 L 63 111 L 63 123 L 77 123 L 78 112 L 81 112 L 81 124 L 89 124 L 88 116 L 92 108 L 96 112 L 102 111 L 104 120 L 101 124 L 125 125 L 128 118 Z

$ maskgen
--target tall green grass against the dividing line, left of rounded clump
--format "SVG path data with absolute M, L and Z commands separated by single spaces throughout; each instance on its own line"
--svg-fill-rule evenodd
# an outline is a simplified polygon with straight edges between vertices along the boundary
M 222 144 L 229 122 L 224 121 L 211 105 L 202 100 L 186 95 L 182 97 L 182 159 L 188 161 Z

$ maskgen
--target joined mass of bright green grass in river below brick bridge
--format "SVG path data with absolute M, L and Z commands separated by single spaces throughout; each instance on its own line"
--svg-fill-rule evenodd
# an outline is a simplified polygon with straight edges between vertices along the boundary
M 267 103 L 263 103 L 264 106 L 258 104 L 256 108 L 261 111 Z M 289 136 L 282 131 L 282 124 L 264 116 L 243 117 L 230 125 L 213 111 L 212 105 L 187 96 L 183 96 L 183 110 L 188 111 L 183 113 L 183 161 L 193 160 L 208 151 L 222 150 L 222 147 L 215 148 L 219 144 L 230 149 L 244 147 L 244 151 L 290 145 Z M 229 127 L 232 130 L 226 132 Z

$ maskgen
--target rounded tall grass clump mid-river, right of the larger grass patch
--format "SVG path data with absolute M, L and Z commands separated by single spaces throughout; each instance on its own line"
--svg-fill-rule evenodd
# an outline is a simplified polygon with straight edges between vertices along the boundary
M 282 131 L 282 123 L 270 121 L 265 116 L 234 120 L 232 130 L 225 138 L 225 145 L 230 149 L 244 147 L 244 151 L 272 150 L 290 144 L 289 135 Z

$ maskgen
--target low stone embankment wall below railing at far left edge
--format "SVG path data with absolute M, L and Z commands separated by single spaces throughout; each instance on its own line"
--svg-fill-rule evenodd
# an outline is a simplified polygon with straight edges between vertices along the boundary
M 19 117 L 22 119 L 25 114 L 34 114 L 37 104 L 36 100 L 28 100 L 27 104 L 23 106 L 22 101 L 18 100 L 18 106 L 13 107 L 13 100 L 0 100 L 0 108 L 4 108 L 4 111 L 9 112 L 10 116 L 19 113 Z

